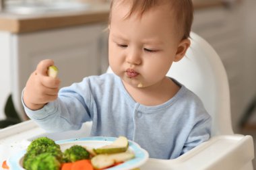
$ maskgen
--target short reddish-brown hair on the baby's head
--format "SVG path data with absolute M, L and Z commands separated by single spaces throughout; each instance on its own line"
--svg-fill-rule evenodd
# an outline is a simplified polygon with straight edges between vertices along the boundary
M 168 4 L 170 5 L 170 12 L 174 13 L 174 16 L 177 19 L 177 29 L 179 30 L 179 34 L 181 34 L 182 40 L 189 38 L 194 12 L 191 0 L 112 0 L 108 24 L 110 24 L 112 7 L 115 1 L 119 1 L 121 3 L 128 1 L 131 2 L 131 9 L 129 13 L 127 13 L 127 17 L 131 16 L 134 12 L 138 12 L 139 16 L 142 16 L 143 13 L 152 7 L 163 3 Z

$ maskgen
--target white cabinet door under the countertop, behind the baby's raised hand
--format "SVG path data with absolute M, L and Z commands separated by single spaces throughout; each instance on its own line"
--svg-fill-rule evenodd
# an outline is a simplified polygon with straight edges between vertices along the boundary
M 22 89 L 40 60 L 55 60 L 61 87 L 82 81 L 88 75 L 99 75 L 104 28 L 103 24 L 95 24 L 13 35 L 13 100 L 18 111 L 23 112 Z

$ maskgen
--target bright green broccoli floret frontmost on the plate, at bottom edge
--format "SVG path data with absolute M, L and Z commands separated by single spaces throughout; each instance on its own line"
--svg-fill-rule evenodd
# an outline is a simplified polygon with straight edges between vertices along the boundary
M 30 163 L 31 170 L 59 170 L 61 167 L 61 163 L 50 153 L 37 155 Z

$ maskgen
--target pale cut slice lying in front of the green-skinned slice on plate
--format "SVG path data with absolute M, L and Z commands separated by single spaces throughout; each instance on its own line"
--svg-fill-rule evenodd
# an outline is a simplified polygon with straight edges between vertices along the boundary
M 133 159 L 134 157 L 135 155 L 133 153 L 102 154 L 93 157 L 91 162 L 94 169 L 104 169 L 115 165 L 115 163 L 121 163 Z

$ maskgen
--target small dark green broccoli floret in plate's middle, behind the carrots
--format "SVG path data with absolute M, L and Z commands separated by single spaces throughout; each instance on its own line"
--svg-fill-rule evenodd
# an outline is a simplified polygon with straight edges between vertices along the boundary
M 89 157 L 90 153 L 86 151 L 86 148 L 79 145 L 73 145 L 63 153 L 63 160 L 65 162 L 75 162 L 82 159 L 89 159 Z

